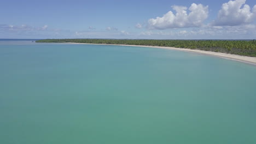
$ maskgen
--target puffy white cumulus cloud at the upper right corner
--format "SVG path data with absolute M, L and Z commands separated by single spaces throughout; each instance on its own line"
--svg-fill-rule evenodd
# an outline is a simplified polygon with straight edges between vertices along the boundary
M 245 4 L 246 0 L 229 1 L 222 5 L 219 10 L 217 20 L 213 22 L 215 26 L 237 26 L 250 23 L 256 18 L 256 5 L 253 10 Z

